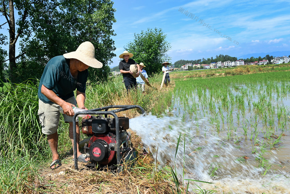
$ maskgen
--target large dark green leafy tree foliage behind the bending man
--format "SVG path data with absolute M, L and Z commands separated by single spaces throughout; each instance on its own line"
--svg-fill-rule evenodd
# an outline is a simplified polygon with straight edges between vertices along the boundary
M 13 70 L 17 81 L 40 78 L 50 58 L 75 51 L 84 41 L 93 43 L 95 57 L 103 63 L 101 69 L 89 68 L 89 79 L 106 80 L 110 71 L 108 64 L 116 49 L 111 39 L 115 36 L 112 30 L 115 9 L 112 6 L 110 0 L 15 1 L 14 9 L 23 12 L 22 18 L 25 15 L 23 22 L 17 23 L 19 28 L 22 26 L 19 35 L 21 60 Z

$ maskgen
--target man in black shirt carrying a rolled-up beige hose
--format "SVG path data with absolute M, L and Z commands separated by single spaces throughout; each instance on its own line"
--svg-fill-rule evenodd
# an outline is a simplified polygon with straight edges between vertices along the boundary
M 140 71 L 140 66 L 133 59 L 131 59 L 132 56 L 133 54 L 126 50 L 119 55 L 120 58 L 123 58 L 123 60 L 119 63 L 119 69 L 120 73 L 123 75 L 127 92 L 131 88 L 137 87 L 136 77 L 139 76 Z

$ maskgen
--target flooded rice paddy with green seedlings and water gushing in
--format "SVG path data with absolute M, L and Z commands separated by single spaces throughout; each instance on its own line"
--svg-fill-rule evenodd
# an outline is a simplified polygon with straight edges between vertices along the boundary
M 189 181 L 190 191 L 290 193 L 289 75 L 176 80 L 166 114 L 133 118 L 130 128 L 184 187 L 215 183 Z

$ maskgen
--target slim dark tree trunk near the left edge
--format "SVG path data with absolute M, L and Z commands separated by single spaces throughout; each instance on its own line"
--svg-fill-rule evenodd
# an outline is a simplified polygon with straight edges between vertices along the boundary
M 13 0 L 9 0 L 9 20 L 10 20 L 10 29 L 9 29 L 9 66 L 10 66 L 10 81 L 13 83 L 16 81 L 14 74 L 14 69 L 16 68 L 15 60 L 15 19 L 14 19 L 14 6 Z

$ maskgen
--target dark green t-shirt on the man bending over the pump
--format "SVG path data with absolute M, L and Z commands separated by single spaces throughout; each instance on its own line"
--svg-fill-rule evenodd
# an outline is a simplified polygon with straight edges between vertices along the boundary
M 52 90 L 59 98 L 67 100 L 74 96 L 73 91 L 86 91 L 86 81 L 88 79 L 88 69 L 78 73 L 77 78 L 70 74 L 70 59 L 63 55 L 53 57 L 46 64 L 41 76 L 38 88 L 38 98 L 44 103 L 52 104 L 46 96 L 41 94 L 41 86 L 44 85 Z

